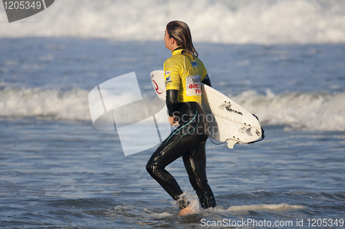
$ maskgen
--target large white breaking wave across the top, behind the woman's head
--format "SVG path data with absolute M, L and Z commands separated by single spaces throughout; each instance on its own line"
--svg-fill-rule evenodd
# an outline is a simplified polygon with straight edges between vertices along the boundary
M 168 21 L 182 20 L 202 42 L 345 42 L 345 1 L 335 0 L 59 0 L 14 23 L 3 8 L 0 16 L 0 37 L 160 41 Z

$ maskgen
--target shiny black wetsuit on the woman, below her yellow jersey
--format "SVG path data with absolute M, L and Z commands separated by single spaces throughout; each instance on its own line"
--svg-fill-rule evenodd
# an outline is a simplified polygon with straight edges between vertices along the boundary
M 207 77 L 203 83 L 210 85 Z M 215 207 L 215 197 L 206 177 L 206 149 L 208 122 L 198 102 L 177 102 L 177 90 L 168 90 L 166 103 L 168 111 L 177 118 L 179 126 L 162 142 L 152 154 L 146 169 L 148 173 L 176 201 L 180 209 L 188 205 L 188 200 L 181 198 L 183 193 L 179 184 L 166 166 L 178 157 L 183 158 L 190 184 L 199 197 L 202 208 Z

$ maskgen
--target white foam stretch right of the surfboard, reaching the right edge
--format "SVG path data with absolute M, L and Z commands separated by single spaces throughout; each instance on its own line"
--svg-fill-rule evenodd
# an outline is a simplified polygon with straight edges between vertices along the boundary
M 286 125 L 312 131 L 345 131 L 345 93 L 324 91 L 275 95 L 245 91 L 232 97 L 259 116 L 262 124 Z

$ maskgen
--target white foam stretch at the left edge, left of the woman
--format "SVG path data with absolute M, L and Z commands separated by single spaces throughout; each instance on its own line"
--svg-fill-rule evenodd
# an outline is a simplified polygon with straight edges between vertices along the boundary
M 75 89 L 5 89 L 0 91 L 0 116 L 91 120 L 88 91 Z

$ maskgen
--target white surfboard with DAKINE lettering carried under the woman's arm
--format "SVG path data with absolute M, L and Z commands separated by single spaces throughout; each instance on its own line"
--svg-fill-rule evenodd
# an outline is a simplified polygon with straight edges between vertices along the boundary
M 157 96 L 166 100 L 164 71 L 153 71 L 150 76 Z M 201 95 L 201 105 L 210 124 L 210 138 L 227 142 L 230 149 L 236 143 L 249 143 L 262 138 L 259 120 L 228 96 L 204 83 L 201 83 Z

